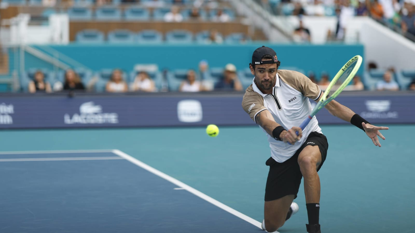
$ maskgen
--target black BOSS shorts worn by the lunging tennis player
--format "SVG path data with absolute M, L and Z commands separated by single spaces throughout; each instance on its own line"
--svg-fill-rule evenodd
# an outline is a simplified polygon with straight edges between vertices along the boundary
M 309 143 L 312 142 L 312 143 Z M 318 146 L 321 153 L 321 164 L 317 171 L 320 170 L 327 156 L 329 144 L 327 138 L 321 133 L 311 132 L 304 144 L 295 152 L 293 157 L 283 163 L 276 162 L 273 158 L 266 161 L 269 166 L 268 178 L 265 187 L 265 201 L 272 201 L 293 194 L 297 198 L 298 189 L 300 188 L 303 175 L 298 165 L 298 155 L 308 145 Z

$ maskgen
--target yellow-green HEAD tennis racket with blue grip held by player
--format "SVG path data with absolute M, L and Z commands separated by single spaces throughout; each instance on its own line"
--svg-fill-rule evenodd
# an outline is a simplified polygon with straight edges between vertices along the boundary
M 352 81 L 354 78 L 357 70 L 359 70 L 362 61 L 363 58 L 361 56 L 354 56 L 346 64 L 344 64 L 339 72 L 337 72 L 336 76 L 334 76 L 333 80 L 330 82 L 329 86 L 324 92 L 324 95 L 314 107 L 311 114 L 303 121 L 303 123 L 300 124 L 300 128 L 302 130 L 304 130 L 305 126 L 308 125 L 312 117 L 315 116 L 315 114 L 317 114 L 320 109 L 326 106 L 326 104 L 328 104 L 331 100 L 336 98 L 340 92 L 342 92 L 342 90 L 344 90 L 344 88 L 349 85 L 350 81 Z M 296 133 L 298 135 L 298 131 Z

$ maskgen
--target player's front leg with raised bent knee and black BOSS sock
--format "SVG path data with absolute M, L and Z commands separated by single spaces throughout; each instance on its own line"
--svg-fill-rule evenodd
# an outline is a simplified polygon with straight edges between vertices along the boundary
M 320 177 L 317 169 L 322 162 L 320 148 L 318 146 L 306 146 L 298 155 L 298 165 L 304 177 L 305 203 L 308 212 L 309 232 L 319 232 L 320 213 Z M 317 226 L 315 226 L 317 225 Z M 308 226 L 308 228 L 309 228 Z

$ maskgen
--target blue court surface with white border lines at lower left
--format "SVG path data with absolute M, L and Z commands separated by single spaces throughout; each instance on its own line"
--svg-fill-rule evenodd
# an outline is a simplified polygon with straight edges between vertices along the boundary
M 120 150 L 3 152 L 0 167 L 4 233 L 243 233 L 260 226 Z

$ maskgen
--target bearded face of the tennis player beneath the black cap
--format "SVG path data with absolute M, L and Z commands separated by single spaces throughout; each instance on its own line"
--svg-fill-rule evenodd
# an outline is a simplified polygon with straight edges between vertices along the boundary
M 269 60 L 263 60 L 263 61 L 269 61 Z M 261 90 L 271 90 L 271 88 L 275 85 L 276 72 L 277 72 L 276 63 L 256 65 L 255 69 L 251 66 L 251 73 L 255 75 L 256 85 Z

